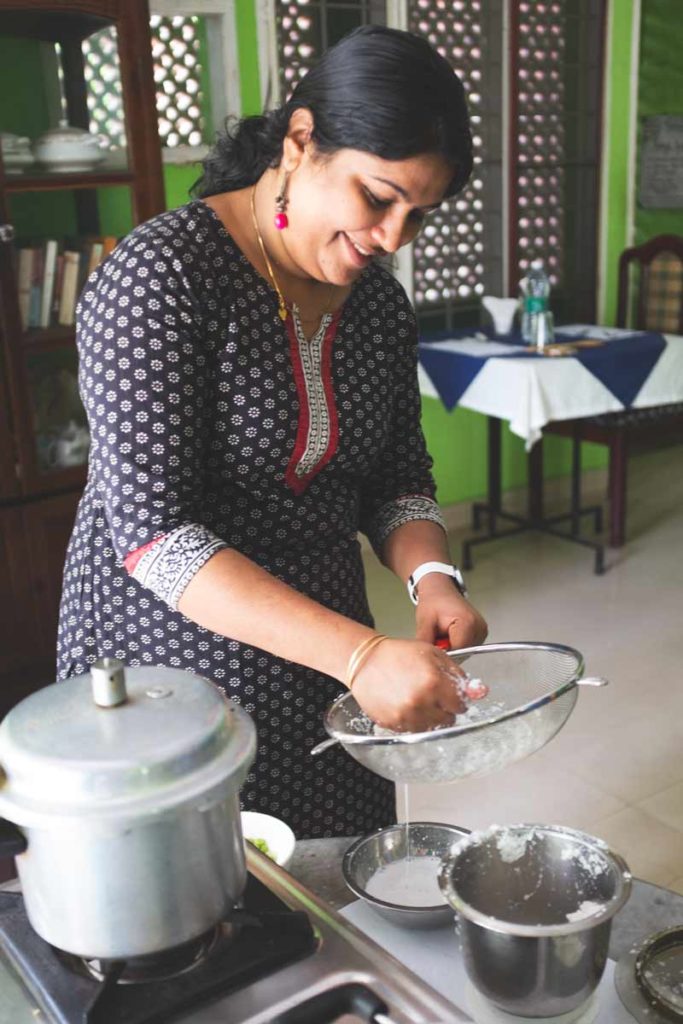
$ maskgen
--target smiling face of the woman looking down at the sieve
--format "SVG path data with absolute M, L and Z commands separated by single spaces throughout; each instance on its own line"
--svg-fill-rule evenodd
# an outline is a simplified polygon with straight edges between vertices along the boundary
M 308 143 L 289 179 L 281 234 L 289 261 L 302 275 L 350 285 L 374 258 L 413 241 L 452 178 L 435 154 L 382 160 L 340 150 L 321 158 Z

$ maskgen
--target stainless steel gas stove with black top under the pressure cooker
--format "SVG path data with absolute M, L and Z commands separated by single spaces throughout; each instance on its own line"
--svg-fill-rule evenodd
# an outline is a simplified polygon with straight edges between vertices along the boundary
M 469 1018 L 256 850 L 243 904 L 196 942 L 128 962 L 44 942 L 0 890 L 1 1024 L 460 1024 Z

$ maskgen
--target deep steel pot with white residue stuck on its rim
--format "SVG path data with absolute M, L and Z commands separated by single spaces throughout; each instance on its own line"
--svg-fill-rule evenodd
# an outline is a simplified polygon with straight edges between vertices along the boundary
M 439 884 L 475 988 L 507 1013 L 555 1017 L 597 987 L 631 874 L 605 843 L 572 828 L 494 825 L 446 857 Z

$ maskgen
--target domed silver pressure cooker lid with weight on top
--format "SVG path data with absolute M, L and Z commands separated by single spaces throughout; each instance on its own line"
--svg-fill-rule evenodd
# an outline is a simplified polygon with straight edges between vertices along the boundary
M 241 784 L 255 744 L 249 716 L 208 680 L 102 658 L 5 717 L 0 813 L 30 824 L 45 813 L 161 812 L 227 776 Z

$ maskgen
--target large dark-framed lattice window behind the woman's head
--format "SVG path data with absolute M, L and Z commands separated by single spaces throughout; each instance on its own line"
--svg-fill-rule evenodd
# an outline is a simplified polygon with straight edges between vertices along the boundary
M 605 0 L 275 0 L 284 94 L 356 25 L 424 35 L 469 97 L 474 171 L 427 219 L 408 278 L 425 329 L 472 324 L 544 259 L 559 317 L 595 316 Z

